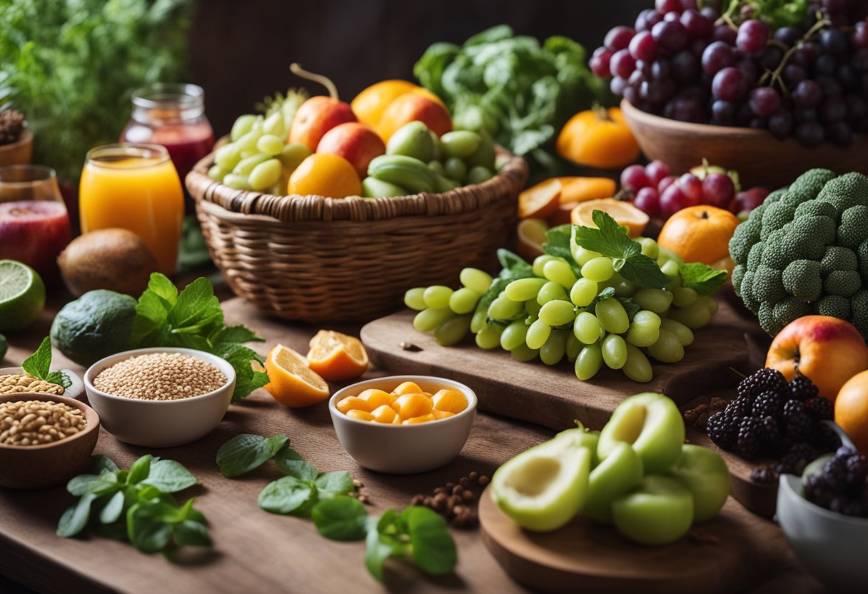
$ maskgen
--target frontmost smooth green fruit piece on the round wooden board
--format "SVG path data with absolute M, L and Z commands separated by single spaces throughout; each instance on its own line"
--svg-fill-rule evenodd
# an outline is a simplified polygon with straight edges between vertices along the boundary
M 621 533 L 641 545 L 667 545 L 687 534 L 694 521 L 694 496 L 677 480 L 648 476 L 639 488 L 612 502 Z

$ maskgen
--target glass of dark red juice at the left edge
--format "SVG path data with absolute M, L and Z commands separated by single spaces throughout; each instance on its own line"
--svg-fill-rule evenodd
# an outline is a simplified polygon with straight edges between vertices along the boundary
M 0 260 L 17 260 L 43 281 L 60 281 L 57 256 L 72 229 L 55 170 L 43 165 L 0 167 Z

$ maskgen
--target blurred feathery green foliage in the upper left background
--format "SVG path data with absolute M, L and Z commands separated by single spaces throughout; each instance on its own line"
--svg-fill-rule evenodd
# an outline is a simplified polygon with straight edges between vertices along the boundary
M 76 181 L 90 148 L 116 142 L 133 90 L 188 79 L 189 0 L 4 0 L 0 109 L 34 132 L 34 162 Z

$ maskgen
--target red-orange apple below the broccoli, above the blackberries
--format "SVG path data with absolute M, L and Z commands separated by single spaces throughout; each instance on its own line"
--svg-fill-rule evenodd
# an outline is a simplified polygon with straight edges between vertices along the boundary
M 868 347 L 850 322 L 806 315 L 787 324 L 766 355 L 766 367 L 777 369 L 786 380 L 796 377 L 797 366 L 819 395 L 834 404 L 841 386 L 868 369 Z

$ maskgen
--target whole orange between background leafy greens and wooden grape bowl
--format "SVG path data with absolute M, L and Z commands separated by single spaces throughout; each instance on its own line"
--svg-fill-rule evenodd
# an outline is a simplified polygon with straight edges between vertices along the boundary
M 555 148 L 568 161 L 601 169 L 622 168 L 639 156 L 639 143 L 618 108 L 573 115 L 557 136 Z

